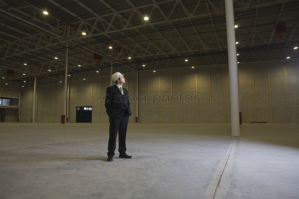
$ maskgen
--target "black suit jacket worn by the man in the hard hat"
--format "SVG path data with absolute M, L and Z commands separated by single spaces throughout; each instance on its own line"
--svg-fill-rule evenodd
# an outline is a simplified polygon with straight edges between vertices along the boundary
M 109 116 L 113 115 L 118 119 L 120 119 L 123 115 L 124 107 L 126 107 L 126 109 L 128 110 L 129 116 L 132 115 L 130 110 L 128 90 L 126 90 L 124 87 L 122 88 L 123 95 L 120 92 L 119 88 L 116 86 L 116 84 L 106 89 L 106 112 Z

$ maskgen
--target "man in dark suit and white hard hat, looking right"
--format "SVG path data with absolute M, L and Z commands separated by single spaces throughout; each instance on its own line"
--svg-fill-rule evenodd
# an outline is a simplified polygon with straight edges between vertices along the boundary
M 129 116 L 132 115 L 130 110 L 128 90 L 122 87 L 126 83 L 126 79 L 120 72 L 112 75 L 112 81 L 115 85 L 110 86 L 106 90 L 105 107 L 109 115 L 109 142 L 108 142 L 108 159 L 112 161 L 115 155 L 116 136 L 118 132 L 118 151 L 120 158 L 132 158 L 126 154 L 126 133 L 128 127 Z

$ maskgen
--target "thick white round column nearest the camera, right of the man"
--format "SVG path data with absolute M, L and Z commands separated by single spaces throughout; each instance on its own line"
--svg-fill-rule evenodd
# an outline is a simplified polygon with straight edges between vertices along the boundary
M 225 0 L 228 44 L 229 87 L 231 93 L 231 136 L 240 136 L 239 91 L 233 0 Z

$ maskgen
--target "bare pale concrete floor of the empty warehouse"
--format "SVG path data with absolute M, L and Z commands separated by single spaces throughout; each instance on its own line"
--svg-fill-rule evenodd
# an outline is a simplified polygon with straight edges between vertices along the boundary
M 0 198 L 299 198 L 299 124 L 1 123 Z

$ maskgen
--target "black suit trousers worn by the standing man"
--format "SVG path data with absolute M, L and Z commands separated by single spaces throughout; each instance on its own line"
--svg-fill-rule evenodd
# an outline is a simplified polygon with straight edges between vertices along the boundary
M 126 152 L 126 134 L 129 122 L 129 112 L 123 109 L 123 115 L 120 119 L 115 118 L 113 115 L 109 116 L 109 141 L 108 141 L 108 156 L 114 156 L 116 148 L 116 136 L 118 132 L 118 152 L 123 155 Z

